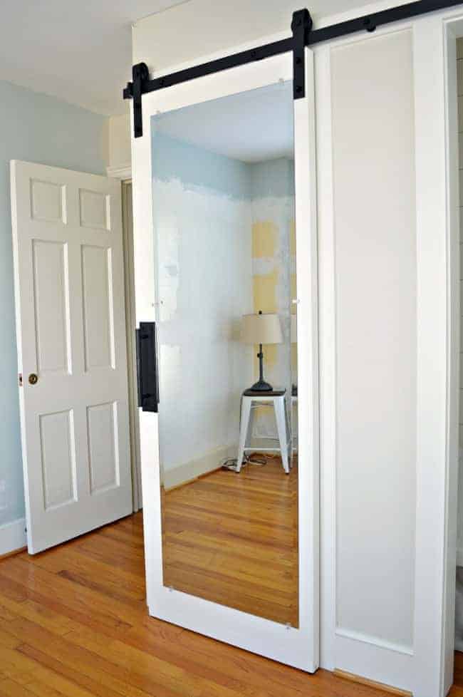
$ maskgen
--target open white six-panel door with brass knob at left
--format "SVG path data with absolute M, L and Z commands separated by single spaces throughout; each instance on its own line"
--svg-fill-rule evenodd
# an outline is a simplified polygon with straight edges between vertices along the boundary
M 31 554 L 132 511 L 120 184 L 11 162 Z

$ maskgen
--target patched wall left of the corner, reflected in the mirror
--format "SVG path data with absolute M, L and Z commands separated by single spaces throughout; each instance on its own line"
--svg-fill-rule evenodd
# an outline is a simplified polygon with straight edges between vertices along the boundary
M 236 456 L 239 400 L 251 380 L 251 347 L 239 334 L 252 311 L 249 167 L 162 133 L 152 143 L 160 461 L 169 488 Z

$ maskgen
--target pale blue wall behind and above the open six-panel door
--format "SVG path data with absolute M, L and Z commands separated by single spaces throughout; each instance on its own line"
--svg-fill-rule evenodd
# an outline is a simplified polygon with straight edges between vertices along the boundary
M 0 81 L 0 525 L 24 516 L 9 161 L 105 173 L 105 117 Z

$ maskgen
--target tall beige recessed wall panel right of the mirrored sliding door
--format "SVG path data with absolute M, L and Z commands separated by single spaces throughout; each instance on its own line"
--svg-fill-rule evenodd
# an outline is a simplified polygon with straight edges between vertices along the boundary
M 410 649 L 417 419 L 412 32 L 340 46 L 331 71 L 336 624 Z

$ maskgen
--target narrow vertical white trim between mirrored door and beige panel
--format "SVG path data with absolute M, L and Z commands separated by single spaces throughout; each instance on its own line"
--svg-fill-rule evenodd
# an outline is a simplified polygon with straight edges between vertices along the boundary
M 331 46 L 316 52 L 318 326 L 320 351 L 320 665 L 335 668 L 336 291 L 331 133 Z

